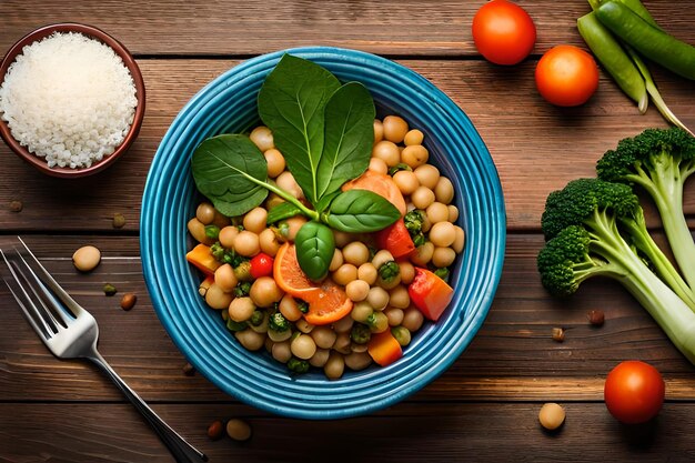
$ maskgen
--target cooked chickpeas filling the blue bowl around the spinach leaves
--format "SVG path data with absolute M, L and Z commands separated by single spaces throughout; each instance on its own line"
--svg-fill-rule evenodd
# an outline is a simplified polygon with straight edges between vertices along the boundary
M 271 131 L 258 127 L 250 138 L 268 161 L 269 178 L 302 200 L 303 192 L 286 170 Z M 338 379 L 345 368 L 362 370 L 372 364 L 367 353 L 372 334 L 391 330 L 402 346 L 411 342 L 412 333 L 423 324 L 423 314 L 411 303 L 407 291 L 415 265 L 446 278 L 447 268 L 464 248 L 463 229 L 455 224 L 459 210 L 452 204 L 453 184 L 427 163 L 423 139 L 420 130 L 411 130 L 400 117 L 374 121 L 369 169 L 391 175 L 403 194 L 409 211 L 405 223 L 416 249 L 396 261 L 390 251 L 374 249 L 371 236 L 334 231 L 336 249 L 329 278 L 344 286 L 353 308 L 332 324 L 308 323 L 302 316 L 305 303 L 285 294 L 272 273 L 255 279 L 250 274 L 249 260 L 259 253 L 274 258 L 284 242 L 294 240 L 305 218 L 266 224 L 268 211 L 284 201 L 273 193 L 240 218 L 225 218 L 208 202 L 198 207 L 188 229 L 222 262 L 214 278 L 201 283 L 199 292 L 210 308 L 221 311 L 245 349 L 265 349 L 298 373 L 312 365 L 323 369 L 328 378 Z

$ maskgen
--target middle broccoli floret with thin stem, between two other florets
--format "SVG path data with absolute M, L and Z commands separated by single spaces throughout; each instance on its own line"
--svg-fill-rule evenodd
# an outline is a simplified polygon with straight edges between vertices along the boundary
M 695 309 L 693 292 L 652 239 L 639 200 L 628 185 L 597 179 L 573 180 L 547 197 L 541 225 L 546 240 L 570 225 L 581 225 L 592 238 L 606 240 L 617 235 L 624 241 L 620 229 L 627 244 L 644 254 L 671 289 Z

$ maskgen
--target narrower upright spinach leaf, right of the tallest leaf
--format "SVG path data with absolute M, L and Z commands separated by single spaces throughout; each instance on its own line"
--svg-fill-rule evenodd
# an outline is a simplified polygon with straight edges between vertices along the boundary
M 319 198 L 360 177 L 374 143 L 374 100 L 359 82 L 338 89 L 325 105 L 325 145 L 316 174 Z

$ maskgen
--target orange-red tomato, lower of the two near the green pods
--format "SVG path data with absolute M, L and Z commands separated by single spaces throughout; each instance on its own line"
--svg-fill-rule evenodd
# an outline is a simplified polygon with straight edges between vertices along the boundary
M 553 47 L 536 66 L 536 88 L 543 98 L 558 107 L 584 104 L 598 88 L 598 67 L 580 48 Z

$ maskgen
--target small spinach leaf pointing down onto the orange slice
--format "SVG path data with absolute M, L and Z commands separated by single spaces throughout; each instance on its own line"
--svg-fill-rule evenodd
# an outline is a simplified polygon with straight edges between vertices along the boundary
M 294 239 L 296 260 L 311 280 L 320 281 L 329 274 L 335 252 L 333 231 L 321 222 L 306 222 Z

